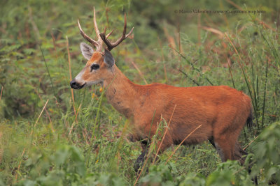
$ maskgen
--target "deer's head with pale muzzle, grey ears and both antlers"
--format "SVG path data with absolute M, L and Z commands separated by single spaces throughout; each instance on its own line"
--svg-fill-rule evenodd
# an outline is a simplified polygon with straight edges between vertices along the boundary
M 70 82 L 71 88 L 74 89 L 80 89 L 85 86 L 91 86 L 92 84 L 102 84 L 104 80 L 112 75 L 113 73 L 113 66 L 115 65 L 115 59 L 113 58 L 113 55 L 111 54 L 111 49 L 118 46 L 120 42 L 125 40 L 130 34 L 132 33 L 133 29 L 126 34 L 127 29 L 127 17 L 125 15 L 125 25 L 123 28 L 123 35 L 116 40 L 116 42 L 111 43 L 108 38 L 113 33 L 111 31 L 109 34 L 106 35 L 106 27 L 104 29 L 104 33 L 99 33 L 99 29 L 97 27 L 97 22 L 95 18 L 95 9 L 93 9 L 93 23 L 94 23 L 94 29 L 95 33 L 97 34 L 97 40 L 93 40 L 87 34 L 83 31 L 83 29 L 80 26 L 80 22 L 78 20 L 78 27 L 80 29 L 80 34 L 90 42 L 90 44 L 93 45 L 93 47 L 96 47 L 96 50 L 90 46 L 87 45 L 85 42 L 80 43 L 80 50 L 87 59 L 87 63 L 85 64 L 85 67 L 83 70 L 78 73 L 78 75 Z M 106 44 L 107 48 L 103 50 L 103 42 Z

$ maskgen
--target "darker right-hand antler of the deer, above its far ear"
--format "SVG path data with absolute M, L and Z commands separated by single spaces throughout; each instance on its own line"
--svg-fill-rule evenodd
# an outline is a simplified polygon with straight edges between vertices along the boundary
M 111 31 L 111 33 L 109 33 L 109 34 L 105 37 L 106 27 L 105 27 L 105 29 L 104 29 L 104 33 L 100 33 L 99 36 L 102 38 L 102 40 L 104 41 L 104 43 L 107 45 L 107 48 L 108 48 L 109 50 L 111 50 L 111 49 L 113 49 L 114 47 L 118 46 L 118 45 L 120 44 L 120 42 L 123 42 L 123 40 L 125 40 L 128 36 L 130 36 L 130 34 L 132 33 L 133 29 L 134 29 L 134 27 L 132 27 L 132 29 L 130 30 L 130 32 L 127 33 L 127 34 L 125 35 L 125 33 L 126 33 L 126 31 L 127 31 L 127 15 L 125 14 L 125 25 L 123 26 L 123 35 L 122 35 L 120 38 L 118 38 L 118 40 L 116 40 L 116 42 L 111 43 L 111 42 L 107 39 L 107 38 L 108 38 L 107 36 L 108 36 L 108 35 L 110 36 L 111 33 L 112 33 L 113 31 Z

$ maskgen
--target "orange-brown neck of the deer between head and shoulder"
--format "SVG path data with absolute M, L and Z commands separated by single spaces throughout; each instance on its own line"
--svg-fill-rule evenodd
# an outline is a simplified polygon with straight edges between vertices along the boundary
M 133 116 L 134 100 L 137 97 L 136 85 L 113 66 L 112 75 L 104 79 L 104 90 L 107 100 L 113 107 L 127 118 Z

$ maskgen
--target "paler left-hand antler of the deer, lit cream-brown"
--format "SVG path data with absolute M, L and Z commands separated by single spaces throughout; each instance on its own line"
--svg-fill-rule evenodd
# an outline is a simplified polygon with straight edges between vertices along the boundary
M 95 46 L 97 49 L 96 51 L 102 51 L 102 38 L 99 36 L 100 33 L 99 33 L 99 30 L 98 30 L 98 27 L 97 27 L 97 22 L 96 22 L 96 18 L 95 18 L 95 8 L 93 7 L 93 24 L 94 24 L 94 30 L 95 30 L 95 33 L 97 34 L 97 41 L 96 40 L 93 40 L 92 38 L 90 38 L 90 36 L 87 36 L 87 34 L 83 31 L 82 27 L 80 26 L 80 22 L 78 20 L 78 27 L 80 29 L 80 35 L 83 36 L 83 38 L 85 38 L 85 40 L 87 40 L 88 42 L 90 42 L 93 46 Z M 114 30 L 113 30 L 114 31 Z M 113 33 L 113 31 L 111 31 L 107 36 L 106 38 L 108 38 L 111 33 Z

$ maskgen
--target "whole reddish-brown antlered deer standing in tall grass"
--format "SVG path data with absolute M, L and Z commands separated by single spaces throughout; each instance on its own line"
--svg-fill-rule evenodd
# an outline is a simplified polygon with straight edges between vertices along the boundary
M 180 144 L 190 132 L 201 125 L 183 144 L 198 144 L 209 140 L 223 162 L 244 162 L 242 156 L 246 155 L 246 152 L 239 146 L 237 138 L 244 125 L 252 122 L 251 99 L 248 95 L 229 86 L 134 84 L 118 69 L 110 52 L 133 31 L 132 28 L 126 34 L 126 15 L 123 34 L 116 42 L 108 39 L 112 31 L 108 35 L 106 29 L 104 33 L 99 33 L 95 10 L 93 20 L 97 40 L 87 36 L 78 21 L 80 34 L 96 47 L 96 50 L 84 42 L 80 43 L 80 50 L 87 63 L 70 85 L 75 89 L 92 84 L 104 86 L 107 100 L 120 114 L 130 118 L 130 125 L 134 129 L 133 139 L 142 141 L 143 153 L 138 157 L 138 163 L 143 160 L 148 146 L 147 141 L 143 140 L 151 139 L 162 118 L 170 121 L 170 124 L 161 146 L 156 145 L 160 147 L 160 153 L 172 144 Z M 103 43 L 106 44 L 104 51 Z M 135 169 L 137 171 L 139 165 L 136 165 Z

